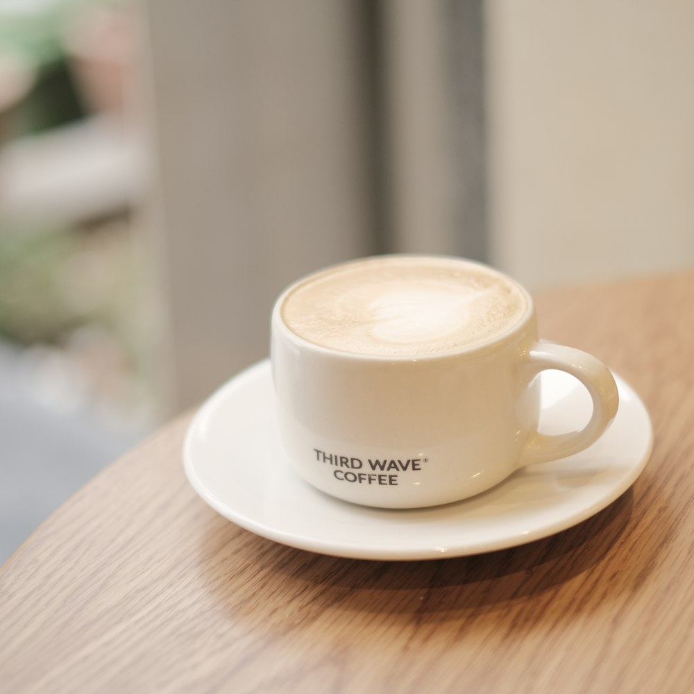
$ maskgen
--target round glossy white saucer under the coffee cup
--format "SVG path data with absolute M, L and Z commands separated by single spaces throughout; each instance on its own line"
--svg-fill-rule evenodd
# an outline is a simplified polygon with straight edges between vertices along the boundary
M 588 421 L 582 386 L 559 371 L 542 376 L 545 433 Z M 371 509 L 333 499 L 282 459 L 267 360 L 232 378 L 194 417 L 185 471 L 198 494 L 230 521 L 291 547 L 357 559 L 440 559 L 521 545 L 575 525 L 632 485 L 652 446 L 648 413 L 616 378 L 620 405 L 590 448 L 511 475 L 474 498 L 428 509 Z

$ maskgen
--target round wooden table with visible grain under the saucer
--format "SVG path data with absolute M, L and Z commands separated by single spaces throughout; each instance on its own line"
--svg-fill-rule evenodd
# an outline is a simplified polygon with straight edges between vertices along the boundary
M 541 332 L 636 389 L 655 444 L 591 520 L 462 559 L 261 539 L 183 475 L 183 416 L 67 502 L 0 575 L 0 689 L 694 691 L 694 275 L 539 296 Z

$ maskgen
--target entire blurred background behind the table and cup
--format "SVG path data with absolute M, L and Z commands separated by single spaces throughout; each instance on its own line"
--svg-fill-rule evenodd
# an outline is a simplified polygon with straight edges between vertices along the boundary
M 693 191 L 692 1 L 0 0 L 0 563 L 303 273 L 691 269 Z

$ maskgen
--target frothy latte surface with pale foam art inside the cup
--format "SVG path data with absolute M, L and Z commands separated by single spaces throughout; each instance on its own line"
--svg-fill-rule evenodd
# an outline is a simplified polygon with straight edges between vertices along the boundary
M 523 290 L 485 266 L 391 255 L 310 276 L 289 291 L 281 314 L 298 337 L 321 347 L 426 356 L 500 337 L 527 308 Z

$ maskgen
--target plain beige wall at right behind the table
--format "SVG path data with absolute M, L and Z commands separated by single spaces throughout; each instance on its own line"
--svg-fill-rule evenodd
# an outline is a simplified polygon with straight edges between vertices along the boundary
M 694 2 L 486 5 L 491 261 L 531 287 L 694 266 Z

